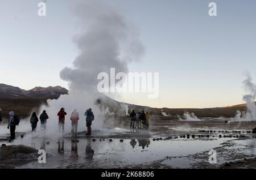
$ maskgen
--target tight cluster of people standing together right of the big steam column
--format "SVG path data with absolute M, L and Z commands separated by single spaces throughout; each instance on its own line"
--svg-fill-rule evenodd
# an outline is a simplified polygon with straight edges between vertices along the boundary
M 147 129 L 149 127 L 149 119 L 150 114 L 148 112 L 144 113 L 144 110 L 142 112 L 139 112 L 136 114 L 134 110 L 130 113 L 131 122 L 130 122 L 130 128 L 145 128 Z

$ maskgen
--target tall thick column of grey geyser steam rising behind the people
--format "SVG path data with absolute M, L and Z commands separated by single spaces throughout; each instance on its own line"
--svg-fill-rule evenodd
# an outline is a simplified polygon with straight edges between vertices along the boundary
M 69 95 L 48 101 L 49 106 L 41 108 L 41 111 L 46 109 L 49 113 L 47 127 L 54 127 L 55 131 L 57 111 L 62 106 L 68 113 L 66 131 L 71 130 L 69 117 L 74 109 L 80 113 L 79 124 L 82 125 L 79 125 L 79 131 L 85 130 L 84 112 L 88 108 L 92 108 L 95 117 L 93 129 L 101 128 L 105 112 L 95 104 L 99 97 L 104 98 L 97 92 L 98 73 L 110 73 L 112 67 L 116 71 L 128 72 L 127 64 L 137 61 L 144 53 L 135 28 L 102 1 L 82 2 L 76 7 L 75 15 L 81 27 L 81 33 L 73 40 L 79 55 L 73 61 L 73 67 L 65 67 L 60 72 L 60 78 L 69 83 Z

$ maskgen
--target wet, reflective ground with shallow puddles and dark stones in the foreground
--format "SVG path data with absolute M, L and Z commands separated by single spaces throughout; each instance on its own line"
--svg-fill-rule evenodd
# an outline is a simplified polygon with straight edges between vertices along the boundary
M 118 123 L 115 126 L 118 127 Z M 69 134 L 62 137 L 26 133 L 11 145 L 46 149 L 47 163 L 32 160 L 25 164 L 13 163 L 13 167 L 255 168 L 256 139 L 251 134 L 255 122 L 225 125 L 220 119 L 201 122 L 158 119 L 151 121 L 149 130 L 128 127 L 129 121 L 126 121 L 118 128 L 94 130 L 90 137 L 79 132 L 77 138 Z M 1 143 L 10 145 L 7 135 L 1 135 Z M 213 164 L 209 163 L 211 149 L 217 153 Z

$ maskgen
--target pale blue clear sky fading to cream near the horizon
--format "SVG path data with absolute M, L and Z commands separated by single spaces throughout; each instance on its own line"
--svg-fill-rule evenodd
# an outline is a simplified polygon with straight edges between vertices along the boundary
M 23 89 L 68 83 L 60 79 L 79 54 L 73 7 L 80 1 L 0 0 L 0 83 Z M 209 16 L 216 2 L 217 16 Z M 141 61 L 129 72 L 159 72 L 159 97 L 125 93 L 117 100 L 158 108 L 241 104 L 243 73 L 256 82 L 256 1 L 106 0 L 139 32 Z

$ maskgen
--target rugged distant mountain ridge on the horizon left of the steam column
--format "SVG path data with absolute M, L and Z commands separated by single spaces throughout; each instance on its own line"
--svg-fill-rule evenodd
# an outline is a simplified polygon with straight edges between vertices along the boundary
M 43 99 L 55 99 L 59 98 L 60 95 L 67 95 L 68 90 L 60 87 L 35 87 L 28 91 L 24 89 L 20 89 L 19 87 L 14 87 L 11 85 L 0 84 L 0 97 L 7 98 L 17 98 L 17 97 L 30 97 L 30 98 L 43 98 Z

